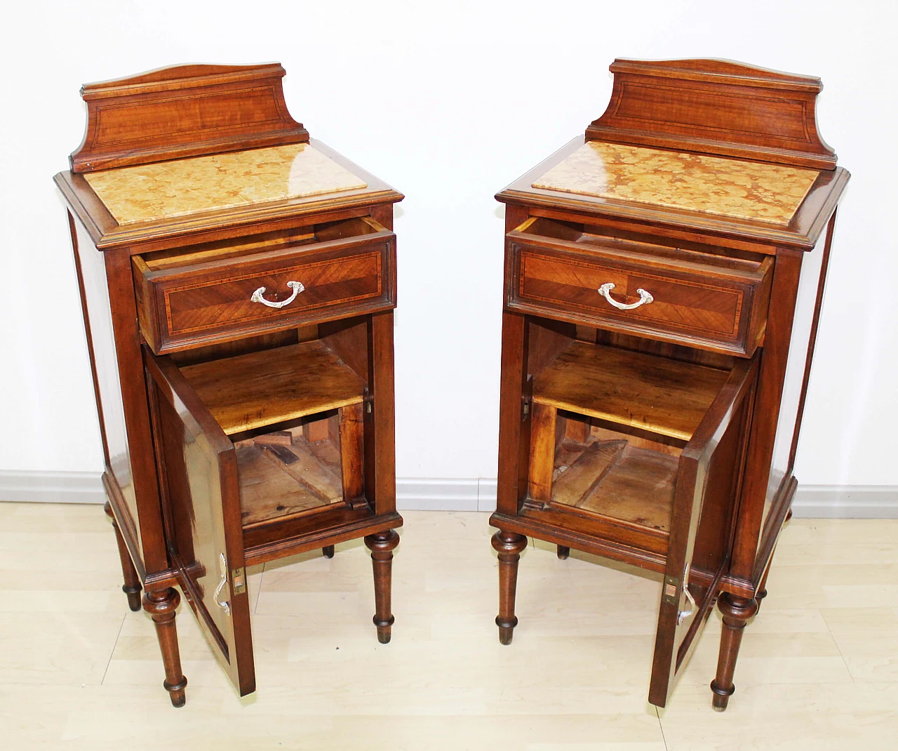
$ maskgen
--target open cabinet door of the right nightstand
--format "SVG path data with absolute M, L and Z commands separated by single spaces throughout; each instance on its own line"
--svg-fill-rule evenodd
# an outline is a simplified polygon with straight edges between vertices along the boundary
M 663 707 L 726 573 L 759 355 L 739 360 L 683 448 L 648 701 Z

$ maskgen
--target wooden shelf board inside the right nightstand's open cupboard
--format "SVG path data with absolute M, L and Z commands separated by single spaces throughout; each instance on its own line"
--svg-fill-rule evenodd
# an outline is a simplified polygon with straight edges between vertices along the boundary
M 575 341 L 536 377 L 533 401 L 688 441 L 728 375 Z

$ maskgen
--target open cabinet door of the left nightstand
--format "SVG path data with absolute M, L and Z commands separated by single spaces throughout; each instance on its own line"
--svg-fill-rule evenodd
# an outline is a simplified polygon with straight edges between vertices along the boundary
M 237 457 L 168 358 L 144 350 L 169 556 L 199 627 L 241 695 L 255 691 Z

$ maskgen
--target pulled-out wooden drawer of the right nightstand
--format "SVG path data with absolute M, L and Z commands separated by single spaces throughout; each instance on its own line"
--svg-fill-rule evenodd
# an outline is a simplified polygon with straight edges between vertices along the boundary
M 507 234 L 506 263 L 510 310 L 745 357 L 763 339 L 769 257 L 637 243 L 531 217 Z M 609 284 L 605 294 L 629 309 L 603 296 Z

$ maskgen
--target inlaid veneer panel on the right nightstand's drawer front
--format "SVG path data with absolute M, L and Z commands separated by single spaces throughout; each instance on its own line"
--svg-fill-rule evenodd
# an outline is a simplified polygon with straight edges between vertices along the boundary
M 618 311 L 598 292 L 611 282 L 611 295 L 621 303 L 638 302 L 638 289 L 654 298 L 648 305 Z M 588 313 L 662 322 L 689 331 L 707 331 L 735 339 L 743 307 L 741 290 L 712 287 L 626 269 L 560 260 L 521 252 L 518 294 L 522 299 L 574 305 Z

